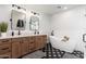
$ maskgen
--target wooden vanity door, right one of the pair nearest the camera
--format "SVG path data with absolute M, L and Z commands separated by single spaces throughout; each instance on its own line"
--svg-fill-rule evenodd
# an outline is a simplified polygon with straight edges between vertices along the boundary
M 23 38 L 22 41 L 22 55 L 28 53 L 28 39 L 27 38 Z

